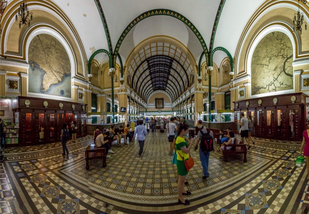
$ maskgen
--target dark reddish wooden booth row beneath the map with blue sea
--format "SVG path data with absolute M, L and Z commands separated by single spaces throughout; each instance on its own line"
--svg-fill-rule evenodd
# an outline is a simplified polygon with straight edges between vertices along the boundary
M 48 102 L 47 107 L 44 101 Z M 72 121 L 76 121 L 78 127 L 77 137 L 86 136 L 86 104 L 21 96 L 15 102 L 13 120 L 14 123 L 19 122 L 19 143 L 11 146 L 58 142 L 62 124 L 67 123 L 70 128 Z M 81 115 L 84 116 L 83 121 Z

